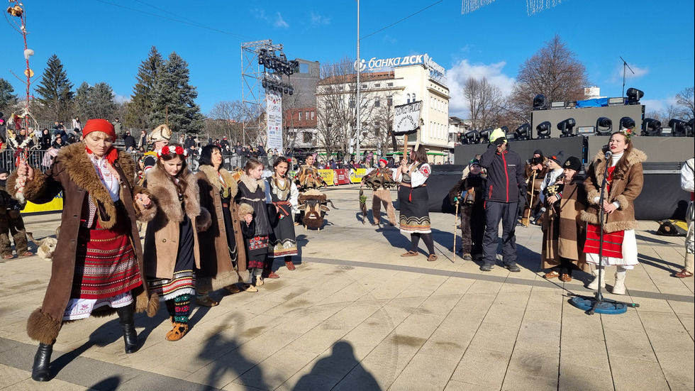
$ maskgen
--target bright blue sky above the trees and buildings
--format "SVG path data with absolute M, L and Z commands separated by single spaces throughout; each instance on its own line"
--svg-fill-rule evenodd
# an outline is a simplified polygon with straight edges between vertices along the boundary
M 162 55 L 176 51 L 189 63 L 204 113 L 217 101 L 241 99 L 243 42 L 272 39 L 284 45 L 288 58 L 319 62 L 356 55 L 357 2 L 352 0 L 24 3 L 28 46 L 35 50 L 30 63 L 39 75 L 35 83 L 55 53 L 75 87 L 106 82 L 127 99 L 140 62 L 155 45 Z M 460 85 L 467 77 L 486 76 L 508 93 L 519 65 L 557 33 L 584 62 L 601 95 L 621 96 L 622 56 L 636 74 L 628 72 L 625 88 L 642 89 L 647 111 L 660 110 L 695 84 L 695 33 L 685 22 L 695 13 L 694 3 L 568 0 L 528 16 L 523 0 L 496 0 L 465 15 L 460 0 L 362 0 L 360 57 L 428 53 L 447 70 L 450 115 L 465 117 Z M 9 72 L 24 70 L 21 35 L 0 20 L 0 42 L 0 77 L 22 95 L 23 84 Z

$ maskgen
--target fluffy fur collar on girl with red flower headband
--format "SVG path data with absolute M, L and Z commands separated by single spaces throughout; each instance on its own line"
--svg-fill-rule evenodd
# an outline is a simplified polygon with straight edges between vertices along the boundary
M 149 170 L 147 175 L 148 189 L 157 199 L 157 207 L 159 208 L 157 213 L 161 211 L 167 216 L 169 221 L 180 223 L 184 220 L 184 215 L 179 202 L 179 193 L 168 176 L 160 167 L 152 167 L 152 170 Z M 188 186 L 184 193 L 186 214 L 191 221 L 195 221 L 195 218 L 201 214 L 200 191 L 196 176 L 190 170 L 188 172 L 187 184 Z

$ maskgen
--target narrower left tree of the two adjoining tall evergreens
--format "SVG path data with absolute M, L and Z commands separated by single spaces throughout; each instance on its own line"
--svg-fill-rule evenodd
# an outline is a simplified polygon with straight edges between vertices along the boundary
M 152 99 L 161 67 L 162 55 L 155 46 L 152 46 L 147 60 L 140 64 L 138 75 L 135 76 L 138 82 L 133 87 L 133 94 L 128 103 L 126 126 L 147 130 L 157 126 L 157 123 L 150 123 L 149 116 L 152 112 Z

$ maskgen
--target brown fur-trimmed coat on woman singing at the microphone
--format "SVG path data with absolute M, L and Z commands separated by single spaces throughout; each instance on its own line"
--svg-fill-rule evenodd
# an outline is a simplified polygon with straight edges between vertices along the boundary
M 644 185 L 642 163 L 647 160 L 647 155 L 641 150 L 633 148 L 629 155 L 623 155 L 624 158 L 628 159 L 627 170 L 619 170 L 618 167 L 621 163 L 618 162 L 616 170 L 613 171 L 611 192 L 606 197 L 608 202 L 620 204 L 616 211 L 606 214 L 604 230 L 608 233 L 637 228 L 635 198 L 640 195 Z M 588 204 L 586 211 L 582 213 L 582 220 L 595 225 L 600 224 L 600 209 L 594 199 L 601 194 L 601 180 L 603 180 L 604 172 L 606 172 L 606 150 L 601 150 L 594 156 L 594 161 L 591 162 L 589 171 L 586 172 L 586 180 L 584 180 Z

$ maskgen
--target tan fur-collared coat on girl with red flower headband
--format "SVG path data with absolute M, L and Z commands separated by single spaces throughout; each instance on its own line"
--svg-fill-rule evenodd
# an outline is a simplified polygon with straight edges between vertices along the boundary
M 193 230 L 194 257 L 196 268 L 200 266 L 199 233 L 210 226 L 210 214 L 200 205 L 198 181 L 193 172 L 188 171 L 187 187 L 184 192 L 184 208 L 186 215 L 195 224 Z M 179 193 L 169 174 L 159 165 L 152 167 L 147 173 L 145 184 L 150 193 L 157 199 L 157 215 L 148 224 L 145 233 L 145 274 L 152 278 L 174 277 L 176 257 L 179 253 L 179 224 L 184 221 L 184 210 L 179 202 Z

